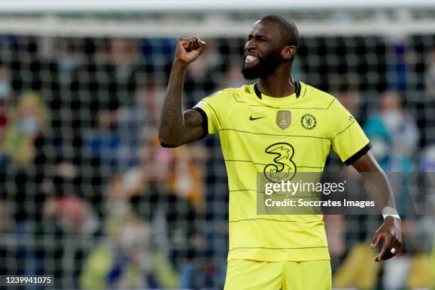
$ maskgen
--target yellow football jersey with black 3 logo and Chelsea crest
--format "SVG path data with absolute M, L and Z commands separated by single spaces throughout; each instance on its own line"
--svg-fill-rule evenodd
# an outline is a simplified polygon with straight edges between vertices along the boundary
M 257 215 L 257 173 L 270 166 L 321 172 L 331 146 L 348 165 L 370 149 L 358 122 L 335 97 L 296 83 L 288 97 L 244 85 L 194 107 L 205 119 L 205 135 L 220 136 L 230 190 L 229 260 L 329 259 L 322 215 Z M 277 162 L 280 148 L 290 152 L 286 161 Z

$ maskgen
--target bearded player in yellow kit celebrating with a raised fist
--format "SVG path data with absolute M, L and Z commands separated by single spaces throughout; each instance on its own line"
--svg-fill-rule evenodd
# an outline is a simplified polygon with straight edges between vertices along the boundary
M 293 23 L 278 16 L 255 22 L 242 73 L 259 82 L 221 90 L 183 112 L 183 78 L 205 43 L 178 39 L 159 140 L 176 147 L 220 135 L 230 188 L 225 289 L 331 289 L 322 216 L 257 215 L 256 206 L 257 172 L 321 172 L 331 146 L 358 171 L 379 173 L 364 178 L 377 205 L 390 210 L 371 245 L 385 240 L 375 261 L 390 259 L 401 245 L 392 190 L 363 130 L 334 97 L 291 77 L 298 45 Z

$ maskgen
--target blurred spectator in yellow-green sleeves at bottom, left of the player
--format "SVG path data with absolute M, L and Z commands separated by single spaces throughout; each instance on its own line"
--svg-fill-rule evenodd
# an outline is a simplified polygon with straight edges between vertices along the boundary
M 85 259 L 80 278 L 82 288 L 169 289 L 178 286 L 171 264 L 150 248 L 149 226 L 137 215 L 127 214 L 107 233 L 108 239 L 92 249 Z

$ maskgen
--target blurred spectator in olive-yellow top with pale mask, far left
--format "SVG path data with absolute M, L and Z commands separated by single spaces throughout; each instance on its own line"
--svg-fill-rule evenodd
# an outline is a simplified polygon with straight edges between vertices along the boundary
M 42 136 L 48 122 L 48 111 L 41 97 L 26 92 L 18 98 L 6 130 L 4 152 L 17 166 L 26 166 L 36 156 L 36 139 Z

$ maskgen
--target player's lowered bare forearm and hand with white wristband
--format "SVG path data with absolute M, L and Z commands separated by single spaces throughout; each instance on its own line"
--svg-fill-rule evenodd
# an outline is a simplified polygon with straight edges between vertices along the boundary
M 382 168 L 377 164 L 375 157 L 368 151 L 366 154 L 355 161 L 352 166 L 358 170 L 364 179 L 365 190 L 370 195 L 370 198 L 375 201 L 375 205 L 382 214 L 387 215 L 380 228 L 376 231 L 375 237 L 372 240 L 370 247 L 376 247 L 377 243 L 384 239 L 384 245 L 379 254 L 375 257 L 375 261 L 379 262 L 385 259 L 394 257 L 402 247 L 402 231 L 400 220 L 395 210 L 394 195 Z M 394 250 L 392 251 L 392 248 Z

